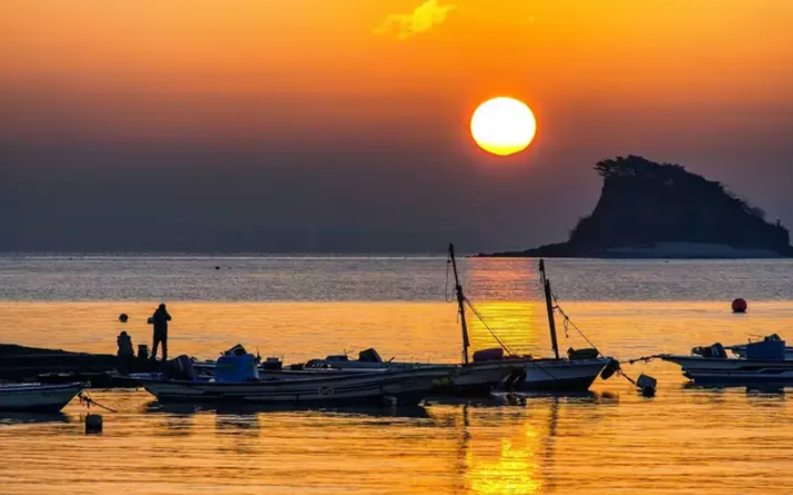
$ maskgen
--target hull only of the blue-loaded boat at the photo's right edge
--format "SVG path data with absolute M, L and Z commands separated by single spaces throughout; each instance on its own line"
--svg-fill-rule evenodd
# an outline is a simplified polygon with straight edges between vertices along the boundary
M 700 356 L 661 356 L 678 364 L 683 376 L 698 385 L 793 386 L 793 361 L 741 360 Z

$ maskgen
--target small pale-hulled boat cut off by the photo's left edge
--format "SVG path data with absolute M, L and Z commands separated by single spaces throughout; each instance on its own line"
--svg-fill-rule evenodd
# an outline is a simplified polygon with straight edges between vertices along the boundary
M 83 388 L 82 383 L 0 385 L 0 411 L 57 413 Z

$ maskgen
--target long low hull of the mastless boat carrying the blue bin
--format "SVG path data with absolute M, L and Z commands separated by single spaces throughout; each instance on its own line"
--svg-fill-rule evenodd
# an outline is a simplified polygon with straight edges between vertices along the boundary
M 244 383 L 143 381 L 143 386 L 161 402 L 383 404 L 392 397 L 399 405 L 415 405 L 451 373 L 447 367 L 428 367 Z

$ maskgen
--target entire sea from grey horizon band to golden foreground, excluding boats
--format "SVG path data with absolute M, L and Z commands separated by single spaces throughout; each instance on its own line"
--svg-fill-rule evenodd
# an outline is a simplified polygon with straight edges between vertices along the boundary
M 559 345 L 591 342 L 631 377 L 590 394 L 434 400 L 410 408 L 240 411 L 91 390 L 55 415 L 0 414 L 0 494 L 791 494 L 784 391 L 699 388 L 662 361 L 693 346 L 793 339 L 791 261 L 548 260 Z M 460 259 L 471 351 L 551 354 L 537 260 Z M 447 260 L 414 256 L 0 257 L 0 342 L 115 352 L 125 330 L 173 316 L 169 353 L 240 343 L 287 363 L 374 347 L 455 363 L 460 326 Z M 746 314 L 733 314 L 743 297 Z M 128 323 L 119 322 L 126 313 Z M 495 334 L 495 335 L 494 335 Z M 101 413 L 101 434 L 84 417 Z

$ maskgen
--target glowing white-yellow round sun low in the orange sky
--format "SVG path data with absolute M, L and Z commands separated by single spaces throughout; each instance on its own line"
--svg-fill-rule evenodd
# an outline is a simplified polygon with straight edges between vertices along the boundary
M 485 151 L 499 156 L 525 150 L 535 139 L 537 121 L 526 103 L 514 98 L 494 98 L 471 117 L 471 135 Z

